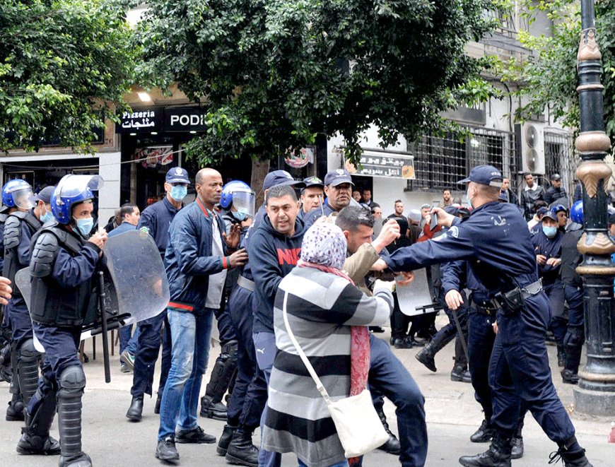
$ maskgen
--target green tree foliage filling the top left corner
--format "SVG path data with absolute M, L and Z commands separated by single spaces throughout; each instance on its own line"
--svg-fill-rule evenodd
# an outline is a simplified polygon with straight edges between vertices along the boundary
M 45 141 L 92 150 L 93 128 L 104 126 L 133 81 L 139 49 L 125 7 L 1 1 L 0 150 L 37 150 Z

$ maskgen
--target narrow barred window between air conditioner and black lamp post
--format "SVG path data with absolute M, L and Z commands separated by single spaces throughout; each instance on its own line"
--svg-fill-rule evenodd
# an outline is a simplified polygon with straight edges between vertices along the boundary
M 562 187 L 568 195 L 573 196 L 575 190 L 575 170 L 580 159 L 573 149 L 573 136 L 570 132 L 559 129 L 544 130 L 544 168 L 546 179 L 553 174 L 562 177 Z

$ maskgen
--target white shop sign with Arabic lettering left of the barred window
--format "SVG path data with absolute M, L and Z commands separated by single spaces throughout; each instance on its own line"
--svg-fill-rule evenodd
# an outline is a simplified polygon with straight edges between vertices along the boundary
M 352 175 L 368 177 L 416 179 L 414 173 L 414 156 L 401 153 L 387 153 L 365 150 L 361 155 L 361 167 L 355 167 L 346 161 L 346 170 Z

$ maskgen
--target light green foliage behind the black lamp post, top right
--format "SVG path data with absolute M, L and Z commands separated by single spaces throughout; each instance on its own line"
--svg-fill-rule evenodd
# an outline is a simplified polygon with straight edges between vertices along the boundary
M 534 3 L 532 5 L 532 3 Z M 602 52 L 604 119 L 607 134 L 615 141 L 615 5 L 612 0 L 596 1 L 596 30 Z M 529 2 L 530 18 L 536 9 L 546 11 L 554 20 L 552 37 L 520 35 L 523 45 L 534 51 L 524 63 L 510 61 L 505 80 L 521 83 L 515 94 L 524 97 L 517 117 L 542 113 L 549 106 L 561 124 L 578 129 L 579 97 L 577 54 L 581 38 L 580 2 L 577 0 L 541 0 Z

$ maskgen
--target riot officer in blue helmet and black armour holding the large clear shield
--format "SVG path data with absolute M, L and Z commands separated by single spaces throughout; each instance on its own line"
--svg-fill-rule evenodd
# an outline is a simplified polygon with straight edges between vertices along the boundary
M 98 309 L 95 271 L 107 232 L 90 235 L 94 220 L 92 189 L 81 183 L 85 175 L 66 175 L 54 190 L 54 220 L 33 237 L 30 276 L 30 315 L 33 330 L 45 348 L 45 363 L 18 451 L 53 444 L 49 427 L 58 412 L 61 439 L 60 467 L 91 466 L 81 450 L 81 396 L 86 374 L 78 358 L 81 328 L 91 324 Z M 82 180 L 82 179 L 81 179 Z M 91 185 L 90 185 L 91 186 Z

